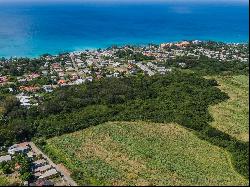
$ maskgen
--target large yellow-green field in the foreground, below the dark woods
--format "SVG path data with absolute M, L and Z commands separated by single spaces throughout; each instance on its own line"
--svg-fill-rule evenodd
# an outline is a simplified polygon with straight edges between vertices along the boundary
M 79 184 L 247 185 L 228 152 L 176 124 L 113 122 L 47 141 Z

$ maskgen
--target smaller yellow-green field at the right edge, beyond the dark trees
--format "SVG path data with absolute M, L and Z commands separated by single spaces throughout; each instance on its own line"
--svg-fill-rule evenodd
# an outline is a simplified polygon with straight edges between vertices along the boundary
M 230 99 L 209 108 L 214 117 L 213 127 L 232 137 L 249 141 L 249 77 L 217 76 L 219 88 L 226 92 Z

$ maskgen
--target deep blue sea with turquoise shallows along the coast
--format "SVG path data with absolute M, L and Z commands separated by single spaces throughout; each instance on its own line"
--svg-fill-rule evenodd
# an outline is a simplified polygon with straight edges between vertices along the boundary
M 8 3 L 9 2 L 9 3 Z M 136 0 L 135 0 L 136 2 Z M 0 2 L 0 56 L 178 40 L 248 42 L 248 3 Z

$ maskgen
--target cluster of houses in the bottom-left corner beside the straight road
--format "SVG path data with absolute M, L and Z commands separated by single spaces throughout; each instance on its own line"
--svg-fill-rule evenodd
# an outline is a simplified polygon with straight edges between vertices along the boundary
M 57 171 L 55 165 L 50 163 L 41 154 L 32 149 L 32 146 L 27 143 L 14 144 L 8 148 L 8 154 L 0 156 L 1 162 L 9 162 L 18 153 L 24 153 L 32 161 L 32 175 L 33 181 L 24 181 L 25 186 L 54 186 L 54 185 L 66 185 L 61 173 Z M 18 170 L 19 165 L 16 163 L 15 170 Z

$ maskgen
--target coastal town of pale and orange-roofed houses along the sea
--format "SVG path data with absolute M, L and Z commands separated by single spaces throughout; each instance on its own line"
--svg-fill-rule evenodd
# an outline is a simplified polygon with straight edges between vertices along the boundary
M 79 85 L 103 77 L 167 74 L 192 60 L 248 63 L 247 44 L 181 41 L 147 46 L 113 46 L 39 58 L 0 59 L 1 90 L 14 94 L 24 107 L 37 106 L 45 94 L 64 86 Z M 169 62 L 175 63 L 169 63 Z

